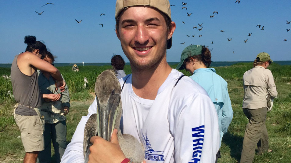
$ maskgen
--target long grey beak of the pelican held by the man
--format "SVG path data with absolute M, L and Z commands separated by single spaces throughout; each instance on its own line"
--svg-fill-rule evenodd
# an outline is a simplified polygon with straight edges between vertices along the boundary
M 115 120 L 119 112 L 120 94 L 115 90 L 110 94 L 107 104 L 100 104 L 97 97 L 97 121 L 99 121 L 98 134 L 103 139 L 110 141 Z

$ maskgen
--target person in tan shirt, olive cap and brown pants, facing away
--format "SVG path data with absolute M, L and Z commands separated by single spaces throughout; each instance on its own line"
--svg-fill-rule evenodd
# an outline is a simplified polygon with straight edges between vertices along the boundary
M 272 72 L 268 66 L 273 61 L 268 53 L 262 52 L 257 55 L 253 62 L 253 68 L 243 74 L 243 113 L 249 119 L 243 137 L 243 149 L 240 162 L 252 162 L 258 147 L 258 154 L 271 152 L 269 150 L 269 137 L 266 128 L 268 104 L 266 95 L 272 99 L 277 97 L 276 85 Z

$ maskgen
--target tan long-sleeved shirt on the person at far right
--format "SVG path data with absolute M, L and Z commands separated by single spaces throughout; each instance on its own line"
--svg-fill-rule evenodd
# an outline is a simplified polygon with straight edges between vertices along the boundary
M 243 74 L 243 108 L 258 109 L 267 106 L 266 94 L 277 97 L 272 72 L 262 66 L 256 66 Z

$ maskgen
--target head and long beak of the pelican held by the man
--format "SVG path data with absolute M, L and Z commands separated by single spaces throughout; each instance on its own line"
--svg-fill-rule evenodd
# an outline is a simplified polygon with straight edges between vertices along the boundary
M 122 114 L 120 84 L 113 70 L 103 71 L 96 79 L 98 133 L 110 141 L 114 128 L 119 128 Z

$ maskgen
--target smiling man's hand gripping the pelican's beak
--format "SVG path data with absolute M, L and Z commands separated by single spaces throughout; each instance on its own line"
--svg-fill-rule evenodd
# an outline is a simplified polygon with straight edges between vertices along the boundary
M 93 136 L 91 138 L 90 141 L 93 145 L 89 148 L 91 153 L 89 154 L 88 163 L 120 163 L 124 158 L 126 158 L 120 149 L 117 132 L 117 129 L 113 130 L 111 142 L 108 142 L 99 136 Z

